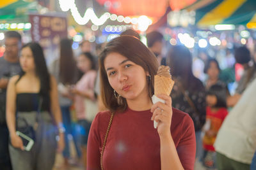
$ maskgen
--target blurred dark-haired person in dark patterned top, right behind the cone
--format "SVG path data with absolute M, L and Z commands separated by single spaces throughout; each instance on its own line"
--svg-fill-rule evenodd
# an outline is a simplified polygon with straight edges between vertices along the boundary
M 173 107 L 188 113 L 195 125 L 196 158 L 202 155 L 201 128 L 205 123 L 205 89 L 192 73 L 192 56 L 186 46 L 170 48 L 166 57 L 175 84 L 171 93 Z

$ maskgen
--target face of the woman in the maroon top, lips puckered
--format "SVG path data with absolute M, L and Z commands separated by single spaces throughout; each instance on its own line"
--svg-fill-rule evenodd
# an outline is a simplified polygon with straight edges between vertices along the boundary
M 104 66 L 111 87 L 129 101 L 148 97 L 147 75 L 143 67 L 120 53 L 109 53 Z

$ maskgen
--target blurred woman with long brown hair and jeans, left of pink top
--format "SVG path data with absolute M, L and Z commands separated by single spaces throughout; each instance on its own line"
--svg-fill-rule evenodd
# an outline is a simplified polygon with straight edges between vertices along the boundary
M 50 73 L 56 78 L 58 83 L 58 97 L 60 101 L 60 108 L 62 113 L 63 125 L 65 131 L 65 148 L 63 150 L 64 167 L 68 167 L 68 159 L 70 159 L 70 145 L 68 134 L 72 134 L 75 140 L 77 157 L 81 157 L 81 151 L 77 146 L 76 136 L 72 131 L 72 122 L 70 117 L 70 106 L 72 105 L 71 95 L 68 92 L 68 87 L 74 85 L 78 80 L 78 71 L 76 67 L 76 60 L 72 50 L 72 40 L 68 38 L 60 41 L 60 57 L 52 62 L 49 67 Z

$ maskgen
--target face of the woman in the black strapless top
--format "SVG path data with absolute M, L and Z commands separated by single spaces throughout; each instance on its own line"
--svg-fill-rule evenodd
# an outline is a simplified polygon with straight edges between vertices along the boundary
M 27 46 L 20 53 L 20 66 L 24 72 L 35 71 L 35 60 L 31 49 Z

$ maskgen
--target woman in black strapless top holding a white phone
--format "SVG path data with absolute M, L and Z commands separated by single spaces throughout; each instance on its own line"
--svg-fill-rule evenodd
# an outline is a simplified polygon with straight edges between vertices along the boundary
M 59 129 L 58 151 L 64 148 L 56 80 L 47 71 L 44 53 L 38 43 L 22 47 L 20 66 L 22 72 L 13 76 L 8 84 L 6 100 L 12 167 L 14 170 L 52 169 L 56 153 L 52 117 Z M 35 131 L 35 143 L 29 151 L 24 150 L 26 144 L 16 134 L 22 127 L 33 127 Z

